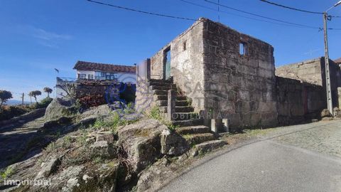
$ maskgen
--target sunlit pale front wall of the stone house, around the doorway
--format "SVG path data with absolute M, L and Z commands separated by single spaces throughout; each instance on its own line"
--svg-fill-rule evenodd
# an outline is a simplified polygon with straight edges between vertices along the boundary
M 163 79 L 165 50 L 171 48 L 171 76 L 184 95 L 193 100 L 195 111 L 204 110 L 204 65 L 202 31 L 205 19 L 200 18 L 187 31 L 164 46 L 151 58 L 151 78 Z

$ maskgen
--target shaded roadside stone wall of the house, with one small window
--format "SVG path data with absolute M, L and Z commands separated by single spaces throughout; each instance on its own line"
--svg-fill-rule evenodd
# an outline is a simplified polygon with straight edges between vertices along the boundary
M 229 119 L 231 128 L 275 125 L 274 48 L 209 20 L 203 41 L 205 110 Z

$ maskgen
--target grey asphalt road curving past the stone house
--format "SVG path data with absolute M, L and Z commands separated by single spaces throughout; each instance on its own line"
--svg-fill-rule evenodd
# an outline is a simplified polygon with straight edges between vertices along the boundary
M 322 124 L 309 131 L 335 127 L 340 132 L 337 129 L 340 122 L 333 124 Z M 341 159 L 309 147 L 283 144 L 278 137 L 264 139 L 195 167 L 161 191 L 341 191 Z

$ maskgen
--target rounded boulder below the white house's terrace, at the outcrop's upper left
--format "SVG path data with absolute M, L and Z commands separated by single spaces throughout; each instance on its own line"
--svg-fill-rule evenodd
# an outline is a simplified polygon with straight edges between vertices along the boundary
M 75 99 L 72 98 L 55 98 L 46 108 L 45 120 L 52 121 L 60 119 L 60 117 L 69 117 L 75 112 Z

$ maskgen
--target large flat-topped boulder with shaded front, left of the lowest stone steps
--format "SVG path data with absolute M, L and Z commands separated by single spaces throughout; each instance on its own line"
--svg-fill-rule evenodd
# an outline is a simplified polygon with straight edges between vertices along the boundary
M 155 119 L 141 119 L 118 130 L 118 144 L 124 149 L 134 172 L 139 172 L 161 156 L 161 133 L 166 125 Z

